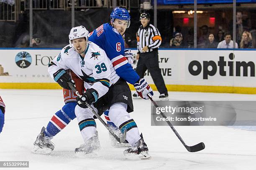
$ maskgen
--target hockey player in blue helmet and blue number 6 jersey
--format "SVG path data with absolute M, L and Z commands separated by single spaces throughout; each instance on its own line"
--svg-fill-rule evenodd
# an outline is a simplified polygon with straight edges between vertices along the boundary
M 133 84 L 140 97 L 148 99 L 147 94 L 150 93 L 153 95 L 153 91 L 146 80 L 144 80 L 144 78 L 140 79 L 136 71 L 133 70 L 131 62 L 128 62 L 132 57 L 131 50 L 125 51 L 124 49 L 122 35 L 130 25 L 130 18 L 131 17 L 126 9 L 116 7 L 110 15 L 110 23 L 105 23 L 91 32 L 89 35 L 89 41 L 94 42 L 105 50 L 108 58 L 110 58 L 113 63 L 116 73 L 125 81 Z M 70 105 L 70 103 L 72 102 L 64 105 L 63 108 L 65 108 L 65 110 L 59 110 L 54 115 L 54 117 L 57 117 L 60 122 L 65 122 L 65 126 L 63 126 L 63 128 L 75 118 L 74 105 L 69 108 L 68 105 Z M 104 114 L 105 117 L 109 116 L 108 111 Z M 111 121 L 108 121 L 108 124 L 117 128 Z M 54 144 L 50 139 L 52 139 L 63 128 L 58 128 L 56 124 L 54 125 L 50 121 L 46 129 L 43 128 L 41 133 L 38 135 L 37 140 L 34 143 L 35 147 L 40 145 L 41 148 L 50 148 L 47 152 L 54 150 Z

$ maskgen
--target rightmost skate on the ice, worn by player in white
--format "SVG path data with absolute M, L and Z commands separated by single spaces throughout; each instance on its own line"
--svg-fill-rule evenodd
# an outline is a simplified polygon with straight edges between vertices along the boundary
M 140 158 L 142 160 L 151 159 L 151 155 L 148 154 L 148 147 L 143 140 L 141 133 L 141 139 L 135 143 L 134 147 L 130 147 L 123 152 L 125 158 L 135 159 Z

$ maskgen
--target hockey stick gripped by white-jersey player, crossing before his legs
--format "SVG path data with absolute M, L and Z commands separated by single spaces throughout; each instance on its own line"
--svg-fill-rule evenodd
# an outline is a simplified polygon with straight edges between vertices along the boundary
M 77 91 L 76 87 L 74 87 L 74 85 L 72 85 L 71 82 L 67 82 L 69 87 L 77 94 L 78 97 L 81 97 L 82 95 L 79 94 L 79 92 Z M 79 104 L 82 104 L 80 101 L 78 101 Z M 100 122 L 102 122 L 102 124 L 108 129 L 108 131 L 111 133 L 111 135 L 113 135 L 113 137 L 119 142 L 119 143 L 124 143 L 126 140 L 126 131 L 123 133 L 123 135 L 119 138 L 117 135 L 115 135 L 115 133 L 113 132 L 113 130 L 107 125 L 107 123 L 100 117 L 100 115 L 98 115 L 97 112 L 95 112 L 95 110 L 87 103 L 85 102 L 85 105 L 88 107 L 88 109 L 90 109 L 93 114 L 100 120 Z

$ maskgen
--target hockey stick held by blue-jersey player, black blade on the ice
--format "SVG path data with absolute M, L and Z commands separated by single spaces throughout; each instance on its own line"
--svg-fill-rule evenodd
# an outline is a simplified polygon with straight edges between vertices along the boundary
M 151 100 L 151 102 L 154 104 L 155 107 L 159 107 L 156 102 L 153 100 L 152 95 L 148 94 L 148 98 Z M 164 115 L 163 112 L 161 112 L 160 110 L 160 114 L 165 118 L 166 120 L 166 115 Z M 173 127 L 172 123 L 168 120 L 166 120 L 167 124 L 170 126 L 170 128 L 172 129 L 172 131 L 175 133 L 175 135 L 178 137 L 179 141 L 184 145 L 184 147 L 187 149 L 187 151 L 189 152 L 198 152 L 200 150 L 205 149 L 205 144 L 204 143 L 198 143 L 197 145 L 194 146 L 188 146 L 186 145 L 186 143 L 184 142 L 184 140 L 180 137 L 179 133 L 175 130 L 175 128 Z

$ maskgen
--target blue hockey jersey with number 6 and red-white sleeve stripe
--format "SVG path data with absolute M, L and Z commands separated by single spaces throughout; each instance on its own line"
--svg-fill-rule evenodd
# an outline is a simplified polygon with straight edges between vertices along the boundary
M 138 82 L 140 77 L 124 57 L 124 41 L 118 30 L 105 23 L 89 34 L 89 41 L 106 52 L 120 77 L 131 84 Z

